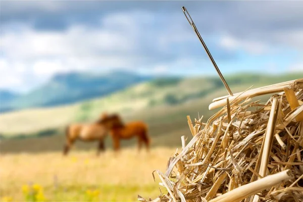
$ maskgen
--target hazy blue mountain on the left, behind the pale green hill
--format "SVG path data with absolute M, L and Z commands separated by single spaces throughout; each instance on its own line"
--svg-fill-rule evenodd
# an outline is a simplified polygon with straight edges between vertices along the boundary
M 56 74 L 46 84 L 24 95 L 15 96 L 2 90 L 3 93 L 0 97 L 1 112 L 72 104 L 94 97 L 105 96 L 150 79 L 151 77 L 148 76 L 123 71 L 107 74 L 80 72 Z

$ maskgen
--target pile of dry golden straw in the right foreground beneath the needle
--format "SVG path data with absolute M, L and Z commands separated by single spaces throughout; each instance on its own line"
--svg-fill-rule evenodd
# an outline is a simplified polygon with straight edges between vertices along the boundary
M 193 138 L 154 172 L 168 192 L 153 201 L 303 201 L 302 100 L 299 79 L 216 98 L 207 123 L 187 117 Z

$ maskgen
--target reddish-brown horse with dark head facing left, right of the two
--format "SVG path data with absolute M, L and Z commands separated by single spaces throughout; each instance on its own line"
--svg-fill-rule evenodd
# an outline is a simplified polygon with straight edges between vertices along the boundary
M 138 138 L 138 150 L 141 149 L 142 143 L 149 150 L 150 138 L 148 137 L 148 127 L 141 121 L 133 121 L 124 124 L 119 115 L 104 116 L 101 121 L 111 123 L 111 135 L 113 138 L 114 149 L 120 149 L 120 139 L 130 139 L 135 136 Z

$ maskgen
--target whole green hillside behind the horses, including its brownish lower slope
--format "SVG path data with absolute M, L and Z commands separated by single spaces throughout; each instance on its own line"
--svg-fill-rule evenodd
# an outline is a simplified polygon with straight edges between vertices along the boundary
M 254 74 L 227 76 L 233 92 L 247 89 L 251 85 L 261 87 L 300 78 L 299 75 L 260 76 Z M 4 137 L 32 136 L 32 138 L 3 139 L 2 150 L 56 150 L 64 142 L 63 127 L 72 122 L 89 122 L 102 112 L 118 112 L 124 121 L 147 122 L 153 145 L 179 145 L 180 136 L 190 135 L 186 115 L 192 119 L 204 115 L 204 120 L 217 110 L 208 106 L 215 97 L 226 95 L 226 89 L 217 77 L 157 79 L 113 93 L 104 98 L 92 99 L 69 106 L 41 108 L 4 114 L 0 117 L 0 128 Z M 258 97 L 263 100 L 268 96 Z M 51 136 L 50 136 L 51 135 Z M 36 136 L 44 136 L 36 138 Z M 189 136 L 190 138 L 190 136 Z M 32 143 L 36 142 L 36 143 Z M 110 145 L 110 138 L 108 140 Z M 44 142 L 44 143 L 43 143 Z M 130 145 L 136 140 L 125 141 Z M 28 145 L 37 145 L 31 146 Z M 88 143 L 77 143 L 79 148 L 91 147 Z

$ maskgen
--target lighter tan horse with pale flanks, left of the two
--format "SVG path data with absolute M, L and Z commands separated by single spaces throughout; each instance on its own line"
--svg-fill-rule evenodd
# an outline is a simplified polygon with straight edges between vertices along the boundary
M 70 124 L 66 128 L 66 144 L 64 146 L 63 155 L 67 155 L 71 146 L 76 140 L 82 140 L 85 142 L 99 141 L 97 155 L 100 151 L 105 151 L 104 141 L 108 135 L 111 125 L 114 122 L 110 122 L 107 119 L 107 115 L 103 114 L 99 121 L 90 124 Z

